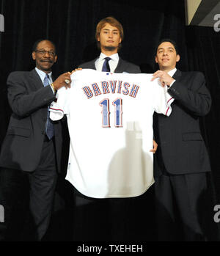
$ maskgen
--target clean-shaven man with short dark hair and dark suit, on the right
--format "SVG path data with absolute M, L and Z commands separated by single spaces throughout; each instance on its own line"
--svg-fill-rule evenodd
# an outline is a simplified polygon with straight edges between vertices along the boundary
M 200 72 L 176 69 L 177 45 L 170 39 L 158 44 L 154 78 L 167 86 L 172 103 L 169 118 L 155 115 L 155 197 L 160 241 L 205 241 L 208 172 L 210 162 L 199 128 L 199 117 L 210 111 L 211 97 Z M 154 79 L 153 78 L 153 79 Z

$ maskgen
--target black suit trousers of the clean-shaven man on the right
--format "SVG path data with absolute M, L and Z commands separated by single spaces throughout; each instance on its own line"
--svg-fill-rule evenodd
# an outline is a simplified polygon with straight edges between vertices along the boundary
M 207 173 L 163 175 L 155 178 L 159 241 L 206 241 Z M 212 218 L 210 217 L 210 222 Z

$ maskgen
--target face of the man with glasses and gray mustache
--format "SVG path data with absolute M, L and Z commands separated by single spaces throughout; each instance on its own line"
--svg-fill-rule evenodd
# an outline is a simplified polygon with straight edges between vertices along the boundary
M 48 40 L 41 41 L 38 43 L 36 51 L 32 52 L 32 58 L 35 60 L 38 69 L 50 72 L 51 67 L 57 60 L 54 45 Z

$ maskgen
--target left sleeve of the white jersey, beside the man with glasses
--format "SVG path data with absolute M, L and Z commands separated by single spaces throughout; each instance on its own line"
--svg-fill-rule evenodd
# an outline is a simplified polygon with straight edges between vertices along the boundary
M 68 97 L 70 95 L 69 88 L 62 87 L 56 93 L 56 100 L 50 106 L 50 118 L 53 121 L 60 120 L 65 114 L 68 114 Z

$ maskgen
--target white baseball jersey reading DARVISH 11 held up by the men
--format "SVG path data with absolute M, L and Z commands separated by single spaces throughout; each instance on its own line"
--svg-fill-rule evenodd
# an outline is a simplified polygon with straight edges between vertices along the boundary
M 59 89 L 51 120 L 67 115 L 66 179 L 87 197 L 136 197 L 153 183 L 153 113 L 173 99 L 152 74 L 79 70 Z

